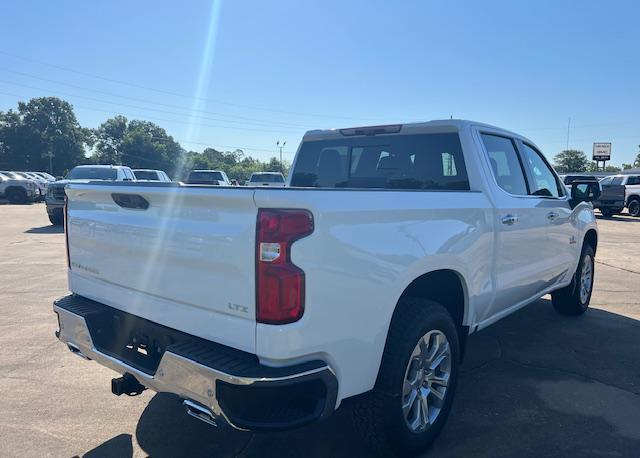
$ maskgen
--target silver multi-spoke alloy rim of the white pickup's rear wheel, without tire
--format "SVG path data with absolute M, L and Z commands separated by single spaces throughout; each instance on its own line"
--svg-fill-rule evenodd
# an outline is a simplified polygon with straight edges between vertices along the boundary
M 420 433 L 444 407 L 451 376 L 451 347 L 441 331 L 426 333 L 411 353 L 402 388 L 402 413 L 409 429 Z

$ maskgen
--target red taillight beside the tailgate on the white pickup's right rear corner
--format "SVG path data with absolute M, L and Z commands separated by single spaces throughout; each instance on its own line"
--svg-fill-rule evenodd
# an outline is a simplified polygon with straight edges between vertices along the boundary
M 304 313 L 304 272 L 291 262 L 291 245 L 313 232 L 307 210 L 258 210 L 256 320 L 286 324 Z

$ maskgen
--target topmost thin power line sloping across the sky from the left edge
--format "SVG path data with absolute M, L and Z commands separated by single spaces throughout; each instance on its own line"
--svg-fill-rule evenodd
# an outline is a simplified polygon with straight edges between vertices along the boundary
M 128 81 L 122 81 L 122 80 L 117 80 L 117 79 L 113 79 L 113 78 L 107 78 L 105 76 L 101 76 L 101 75 L 96 75 L 93 73 L 89 73 L 89 72 L 84 72 L 81 70 L 76 70 L 76 69 L 72 69 L 69 67 L 63 67 L 61 65 L 57 65 L 57 64 L 52 64 L 49 62 L 43 62 L 40 60 L 36 60 L 36 59 L 32 59 L 30 57 L 24 57 L 24 56 L 20 56 L 17 54 L 13 54 L 10 52 L 6 52 L 6 51 L 2 51 L 0 50 L 0 54 L 4 54 L 5 56 L 10 56 L 13 57 L 15 59 L 20 59 L 20 60 L 24 60 L 26 62 L 32 62 L 38 65 L 44 65 L 47 67 L 51 67 L 51 68 L 56 68 L 58 70 L 62 70 L 62 71 L 66 71 L 66 72 L 70 72 L 70 73 L 76 73 L 78 75 L 83 75 L 86 77 L 90 77 L 90 78 L 96 78 L 102 81 L 108 81 L 110 83 L 115 83 L 115 84 L 121 84 L 124 86 L 130 86 L 136 89 L 144 89 L 147 91 L 152 91 L 152 92 L 157 92 L 160 94 L 165 94 L 165 95 L 171 95 L 174 97 L 182 97 L 185 99 L 189 99 L 189 100 L 202 100 L 202 101 L 206 101 L 206 102 L 213 102 L 213 103 L 218 103 L 220 105 L 228 105 L 228 106 L 233 106 L 233 107 L 238 107 L 238 108 L 247 108 L 250 110 L 257 110 L 257 111 L 267 111 L 267 112 L 272 112 L 272 113 L 283 113 L 283 114 L 290 114 L 290 115 L 295 115 L 295 116 L 311 116 L 311 117 L 316 117 L 316 118 L 334 118 L 334 119 L 344 119 L 344 120 L 354 120 L 354 119 L 359 119 L 359 120 L 369 120 L 369 121 L 380 121 L 380 118 L 355 118 L 355 117 L 351 117 L 351 116 L 338 116 L 338 115 L 326 115 L 326 114 L 318 114 L 318 113 L 303 113 L 303 112 L 298 112 L 298 111 L 286 111 L 286 110 L 276 110 L 273 108 L 264 108 L 264 107 L 256 107 L 256 106 L 252 106 L 252 105 L 244 105 L 244 104 L 238 104 L 238 103 L 232 103 L 232 102 L 225 102 L 222 100 L 218 100 L 218 99 L 209 99 L 209 98 L 205 98 L 205 97 L 194 97 L 194 96 L 190 96 L 190 95 L 185 95 L 185 94 L 181 94 L 179 92 L 173 92 L 173 91 L 167 91 L 164 89 L 157 89 L 157 88 L 152 88 L 149 86 L 144 86 L 142 84 L 137 84 L 137 83 L 131 83 Z

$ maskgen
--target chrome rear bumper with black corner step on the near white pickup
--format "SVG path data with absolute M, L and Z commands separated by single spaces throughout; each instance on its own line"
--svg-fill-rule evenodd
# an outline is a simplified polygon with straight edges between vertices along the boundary
M 154 391 L 174 393 L 191 403 L 195 401 L 210 410 L 213 418 L 223 420 L 236 429 L 290 429 L 324 418 L 330 415 L 335 408 L 337 381 L 331 368 L 322 361 L 310 361 L 284 368 L 258 366 L 253 368 L 251 373 L 246 370 L 234 373 L 227 369 L 234 366 L 233 362 L 228 363 L 228 358 L 225 359 L 227 362 L 223 369 L 214 367 L 214 364 L 203 363 L 202 360 L 196 361 L 195 359 L 198 358 L 189 357 L 188 353 L 180 349 L 180 345 L 169 345 L 164 349 L 157 369 L 153 373 L 148 373 L 134 367 L 128 361 L 101 351 L 94 345 L 95 339 L 92 337 L 92 331 L 96 332 L 96 330 L 90 329 L 87 317 L 92 313 L 108 314 L 113 311 L 115 314 L 124 314 L 124 312 L 73 295 L 55 301 L 53 309 L 58 315 L 59 323 L 56 336 L 73 353 L 84 359 L 94 360 L 120 374 L 131 374 L 142 385 Z M 182 348 L 184 347 L 183 345 Z M 202 352 L 199 350 L 194 353 L 202 354 Z M 235 366 L 242 366 L 242 364 L 242 361 L 236 362 Z M 264 405 L 260 398 L 261 393 L 269 392 L 268 398 L 271 400 L 274 398 L 273 388 L 281 389 L 283 393 L 290 393 L 296 387 L 303 387 L 306 390 L 304 384 L 311 383 L 314 386 L 319 386 L 319 382 L 324 389 L 319 391 L 323 394 L 321 393 L 317 399 L 318 407 L 312 409 L 311 414 L 305 414 L 302 417 L 262 421 L 258 412 L 253 412 L 253 406 L 246 405 L 244 401 L 244 399 L 249 399 L 246 402 L 255 402 L 255 409 L 261 409 Z M 227 397 L 221 398 L 219 390 L 227 393 L 225 394 Z M 308 397 L 308 395 L 305 396 Z M 278 395 L 275 398 L 278 398 Z M 292 399 L 290 396 L 284 395 L 283 400 L 274 410 L 281 411 L 284 407 L 286 411 L 287 406 L 283 406 L 282 403 L 292 401 L 294 404 L 296 403 L 295 398 Z M 300 410 L 295 405 L 290 407 L 291 412 Z M 253 417 L 247 418 L 247 415 Z M 268 419 L 269 415 L 265 415 L 265 418 Z

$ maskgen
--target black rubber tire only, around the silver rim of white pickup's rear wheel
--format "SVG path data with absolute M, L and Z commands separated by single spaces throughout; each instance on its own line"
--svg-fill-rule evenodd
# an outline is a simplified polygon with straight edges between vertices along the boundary
M 403 413 L 403 387 L 411 364 L 412 352 L 418 342 L 430 331 L 439 331 L 446 336 L 449 344 L 450 367 L 444 399 L 439 402 L 440 411 L 424 430 L 414 432 Z M 436 347 L 437 348 L 437 347 Z M 434 358 L 437 360 L 437 358 Z M 375 455 L 412 456 L 424 452 L 435 440 L 444 426 L 451 410 L 456 389 L 458 366 L 460 362 L 460 344 L 456 326 L 451 315 L 440 304 L 420 298 L 407 297 L 400 300 L 398 309 L 391 321 L 378 379 L 373 391 L 364 395 L 353 406 L 356 427 L 363 434 L 367 445 Z M 444 364 L 444 363 L 442 363 Z M 442 367 L 442 364 L 436 367 Z M 414 367 L 414 366 L 411 366 Z M 432 366 L 433 367 L 433 366 Z M 420 371 L 429 370 L 420 365 Z M 440 369 L 438 369 L 440 370 Z M 432 371 L 434 374 L 438 371 Z M 443 373 L 440 373 L 442 376 Z M 416 375 L 417 379 L 417 375 Z M 426 382 L 425 382 L 426 383 Z M 431 387 L 418 384 L 425 390 Z M 438 385 L 442 389 L 441 385 Z M 428 391 L 429 393 L 433 391 Z M 432 406 L 438 399 L 430 394 Z M 418 401 L 417 409 L 422 405 Z M 411 408 L 409 411 L 413 411 Z M 431 411 L 428 409 L 428 415 Z M 411 413 L 409 413 L 411 415 Z M 428 416 L 427 415 L 427 416 Z

